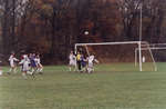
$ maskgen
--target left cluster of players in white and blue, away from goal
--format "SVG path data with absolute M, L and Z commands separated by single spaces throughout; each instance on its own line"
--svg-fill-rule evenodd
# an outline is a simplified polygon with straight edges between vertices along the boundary
M 42 73 L 43 66 L 41 65 L 40 54 L 30 53 L 22 54 L 21 59 L 17 59 L 14 53 L 11 53 L 9 57 L 10 70 L 11 72 L 17 73 L 17 65 L 20 66 L 23 78 L 27 78 L 27 75 L 34 76 L 35 72 Z

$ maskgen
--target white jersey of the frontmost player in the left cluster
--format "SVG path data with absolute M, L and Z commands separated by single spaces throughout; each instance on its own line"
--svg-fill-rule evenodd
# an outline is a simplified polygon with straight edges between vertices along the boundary
M 20 65 L 22 65 L 22 70 L 23 71 L 29 71 L 30 70 L 30 60 L 28 57 L 25 57 L 24 59 L 21 60 Z

